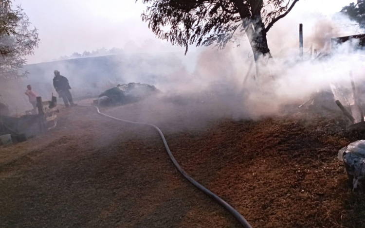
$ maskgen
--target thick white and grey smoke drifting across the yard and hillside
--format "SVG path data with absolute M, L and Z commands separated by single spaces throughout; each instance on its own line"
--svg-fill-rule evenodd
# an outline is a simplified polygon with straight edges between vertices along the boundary
M 299 23 L 304 24 L 303 59 L 298 57 Z M 353 51 L 356 42 L 331 49 L 331 38 L 362 32 L 347 27 L 349 23 L 352 22 L 343 15 L 329 18 L 315 13 L 279 21 L 268 34 L 274 61 L 261 59 L 262 66 L 268 68 L 260 77 L 256 75 L 252 50 L 245 37 L 238 48 L 236 44 L 224 50 L 200 48 L 186 56 L 182 52 L 157 52 L 164 45 L 146 41 L 141 46 L 141 50 L 149 48 L 146 53 L 130 51 L 28 65 L 25 70 L 30 72 L 29 77 L 1 83 L 1 95 L 12 104 L 13 113 L 17 106 L 18 111 L 30 109 L 24 95 L 26 85 L 31 84 L 48 100 L 55 94 L 53 71 L 59 70 L 69 79 L 71 92 L 78 100 L 95 98 L 108 88 L 129 82 L 146 83 L 162 90 L 163 95 L 127 105 L 123 112 L 118 108 L 110 110 L 111 114 L 133 121 L 178 122 L 180 128 L 173 126 L 181 129 L 204 120 L 277 115 L 284 105 L 300 104 L 313 93 L 330 89 L 331 84 L 350 88 L 350 70 L 357 84 L 365 81 L 365 54 Z M 315 59 L 314 49 L 326 57 Z

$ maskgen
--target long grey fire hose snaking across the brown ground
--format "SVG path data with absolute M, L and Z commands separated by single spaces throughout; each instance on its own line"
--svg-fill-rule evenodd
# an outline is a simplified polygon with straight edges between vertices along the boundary
M 83 106 L 83 105 L 80 105 Z M 88 107 L 88 106 L 84 106 L 84 107 Z M 164 142 L 164 146 L 166 148 L 167 154 L 170 157 L 170 159 L 172 160 L 172 163 L 174 163 L 175 167 L 179 170 L 179 172 L 188 180 L 190 181 L 190 183 L 192 183 L 195 187 L 197 187 L 199 190 L 201 190 L 203 193 L 207 194 L 208 196 L 210 196 L 211 198 L 213 198 L 215 201 L 217 201 L 223 208 L 225 208 L 226 210 L 228 210 L 233 216 L 236 217 L 236 219 L 242 224 L 242 226 L 244 228 L 252 228 L 251 225 L 247 222 L 247 220 L 236 210 L 234 209 L 231 205 L 229 205 L 227 202 L 225 202 L 224 200 L 222 200 L 221 198 L 219 198 L 219 196 L 217 196 L 216 194 L 212 193 L 209 189 L 205 188 L 204 186 L 202 186 L 199 182 L 197 182 L 196 180 L 194 180 L 191 176 L 189 176 L 184 170 L 183 168 L 181 168 L 181 166 L 179 165 L 179 163 L 176 161 L 176 159 L 174 158 L 174 156 L 172 155 L 170 148 L 167 145 L 167 141 L 164 137 L 164 134 L 162 133 L 162 131 L 160 130 L 160 128 L 158 128 L 157 126 L 150 124 L 150 123 L 140 123 L 140 122 L 132 122 L 132 121 L 127 121 L 127 120 L 122 120 L 122 119 L 118 119 L 112 116 L 109 116 L 105 113 L 100 112 L 99 108 L 97 106 L 93 106 L 96 108 L 97 113 L 105 116 L 107 118 L 116 120 L 116 121 L 120 121 L 120 122 L 124 122 L 124 123 L 131 123 L 131 124 L 137 124 L 137 125 L 146 125 L 146 126 L 150 126 L 153 127 L 155 130 L 157 130 L 157 132 L 160 134 L 161 139 Z

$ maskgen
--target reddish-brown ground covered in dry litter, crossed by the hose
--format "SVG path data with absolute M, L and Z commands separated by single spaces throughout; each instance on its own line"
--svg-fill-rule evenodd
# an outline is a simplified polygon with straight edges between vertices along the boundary
M 133 107 L 104 111 L 133 119 Z M 176 171 L 153 129 L 93 107 L 62 109 L 58 119 L 45 135 L 0 147 L 1 228 L 241 227 Z M 365 226 L 365 196 L 352 192 L 336 158 L 364 132 L 347 133 L 341 116 L 295 109 L 171 124 L 160 125 L 178 162 L 254 228 Z

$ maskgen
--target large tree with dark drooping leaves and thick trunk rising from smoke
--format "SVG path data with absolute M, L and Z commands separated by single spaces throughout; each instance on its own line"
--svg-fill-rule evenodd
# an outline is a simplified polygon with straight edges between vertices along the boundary
M 185 47 L 216 43 L 224 48 L 236 32 L 249 38 L 255 61 L 270 54 L 266 34 L 299 0 L 142 0 L 142 20 L 161 39 Z M 168 26 L 169 31 L 164 31 Z

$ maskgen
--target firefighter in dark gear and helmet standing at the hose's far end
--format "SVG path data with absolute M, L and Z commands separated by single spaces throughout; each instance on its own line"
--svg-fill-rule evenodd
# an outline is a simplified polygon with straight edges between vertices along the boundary
M 66 77 L 60 75 L 58 70 L 55 70 L 55 77 L 53 78 L 53 86 L 55 87 L 56 92 L 58 93 L 58 97 L 62 97 L 63 102 L 66 107 L 69 107 L 69 103 L 71 106 L 76 104 L 73 103 L 72 95 L 70 92 L 70 84 L 69 80 Z

